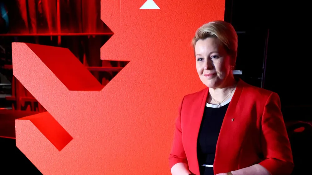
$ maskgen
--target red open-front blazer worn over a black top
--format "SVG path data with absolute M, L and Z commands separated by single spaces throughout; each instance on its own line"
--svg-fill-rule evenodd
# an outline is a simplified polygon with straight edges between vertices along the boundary
M 208 88 L 183 98 L 170 168 L 184 162 L 199 175 L 197 136 L 207 95 Z M 257 163 L 272 175 L 290 174 L 294 166 L 279 96 L 239 80 L 219 133 L 213 170 L 215 174 L 227 173 Z

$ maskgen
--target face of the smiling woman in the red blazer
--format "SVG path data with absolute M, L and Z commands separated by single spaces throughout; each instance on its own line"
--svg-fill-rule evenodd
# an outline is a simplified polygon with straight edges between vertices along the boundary
M 232 76 L 231 57 L 216 37 L 195 44 L 196 69 L 200 80 L 209 88 L 223 87 Z

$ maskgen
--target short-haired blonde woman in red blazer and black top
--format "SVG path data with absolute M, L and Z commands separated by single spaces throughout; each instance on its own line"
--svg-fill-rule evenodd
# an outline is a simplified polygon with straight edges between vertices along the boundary
M 207 88 L 183 98 L 169 156 L 173 175 L 290 174 L 293 158 L 279 96 L 232 73 L 237 35 L 213 21 L 193 38 L 196 69 Z

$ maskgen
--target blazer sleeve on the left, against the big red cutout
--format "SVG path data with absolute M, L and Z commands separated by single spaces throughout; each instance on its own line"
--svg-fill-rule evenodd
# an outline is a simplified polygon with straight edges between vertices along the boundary
M 183 98 L 184 100 L 184 98 Z M 179 106 L 179 112 L 178 117 L 175 121 L 175 129 L 174 129 L 174 135 L 173 135 L 173 145 L 171 148 L 171 152 L 169 155 L 169 166 L 170 169 L 175 165 L 176 163 L 188 163 L 186 154 L 183 148 L 182 144 L 182 130 L 181 130 L 181 109 L 183 100 Z

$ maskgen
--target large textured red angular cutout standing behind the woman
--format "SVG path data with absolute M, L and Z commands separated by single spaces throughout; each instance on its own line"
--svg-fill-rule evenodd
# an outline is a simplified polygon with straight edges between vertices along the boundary
M 13 43 L 14 76 L 73 138 L 59 151 L 31 121 L 16 120 L 17 147 L 43 174 L 170 174 L 178 105 L 204 87 L 190 42 L 203 23 L 223 19 L 225 1 L 139 9 L 145 1 L 101 2 L 115 33 L 101 59 L 130 61 L 102 90 L 68 50 Z

